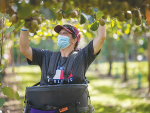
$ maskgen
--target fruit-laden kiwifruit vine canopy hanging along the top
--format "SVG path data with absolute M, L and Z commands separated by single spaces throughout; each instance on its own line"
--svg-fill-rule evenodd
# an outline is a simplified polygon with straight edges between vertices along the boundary
M 32 33 L 42 23 L 43 16 L 40 17 L 42 12 L 39 11 L 41 7 L 55 10 L 57 20 L 80 19 L 82 13 L 95 15 L 93 9 L 97 8 L 104 14 L 99 20 L 101 25 L 105 25 L 107 16 L 120 22 L 133 20 L 136 25 L 140 25 L 142 19 L 148 17 L 146 11 L 150 10 L 150 0 L 0 0 L 0 12 L 9 14 L 12 23 L 25 20 L 25 27 Z M 34 16 L 35 13 L 38 15 Z

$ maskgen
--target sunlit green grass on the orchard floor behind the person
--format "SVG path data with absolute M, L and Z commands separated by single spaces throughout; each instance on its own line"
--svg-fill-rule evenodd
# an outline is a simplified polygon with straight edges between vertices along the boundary
M 118 67 L 118 79 L 101 78 L 101 74 L 107 74 L 108 63 L 101 63 L 98 65 L 99 73 L 94 70 L 95 65 L 92 64 L 90 71 L 86 73 L 87 79 L 90 81 L 89 91 L 91 96 L 91 103 L 95 108 L 95 113 L 150 113 L 150 98 L 146 97 L 147 93 L 147 62 L 129 62 L 128 68 L 128 82 L 122 82 L 123 63 L 113 63 L 112 74 L 116 74 L 116 67 Z M 141 71 L 138 70 L 141 68 Z M 11 68 L 7 69 L 11 72 Z M 20 66 L 15 67 L 17 73 L 16 81 L 18 81 L 18 90 L 20 95 L 24 95 L 26 87 L 40 81 L 41 72 L 37 66 Z M 137 90 L 138 73 L 142 74 L 141 89 Z M 10 78 L 10 81 L 12 79 Z

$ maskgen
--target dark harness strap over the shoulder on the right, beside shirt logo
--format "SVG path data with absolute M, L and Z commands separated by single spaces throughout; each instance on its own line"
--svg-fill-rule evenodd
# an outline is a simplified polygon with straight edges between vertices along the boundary
M 67 80 L 67 78 L 68 78 L 68 76 L 70 75 L 70 73 L 71 73 L 71 70 L 72 70 L 72 65 L 73 65 L 73 62 L 74 62 L 74 59 L 75 59 L 75 57 L 77 56 L 77 54 L 78 54 L 78 52 L 77 51 L 73 51 L 70 55 L 69 55 L 69 57 L 68 57 L 68 59 L 67 59 L 67 62 L 66 62 L 66 66 L 65 66 L 65 70 L 64 70 L 64 84 L 66 84 L 66 83 L 68 83 L 68 80 Z

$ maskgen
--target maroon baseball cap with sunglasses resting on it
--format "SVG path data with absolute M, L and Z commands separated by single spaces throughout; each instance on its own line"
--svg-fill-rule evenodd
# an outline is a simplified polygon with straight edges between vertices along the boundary
M 77 37 L 78 43 L 80 42 L 80 33 L 76 27 L 71 26 L 69 24 L 65 24 L 63 26 L 57 25 L 57 26 L 55 26 L 54 31 L 59 33 L 61 31 L 61 29 L 65 29 L 71 34 L 75 34 Z

